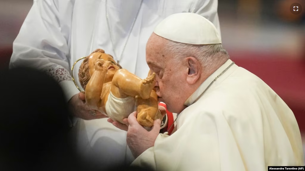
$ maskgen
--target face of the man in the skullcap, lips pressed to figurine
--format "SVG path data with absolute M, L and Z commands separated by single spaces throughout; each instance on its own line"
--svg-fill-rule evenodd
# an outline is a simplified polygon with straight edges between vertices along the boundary
M 185 76 L 179 63 L 173 62 L 173 56 L 165 47 L 166 39 L 152 34 L 146 45 L 146 62 L 151 72 L 156 73 L 156 93 L 158 101 L 167 105 L 173 113 L 180 113 L 184 108 L 183 89 Z

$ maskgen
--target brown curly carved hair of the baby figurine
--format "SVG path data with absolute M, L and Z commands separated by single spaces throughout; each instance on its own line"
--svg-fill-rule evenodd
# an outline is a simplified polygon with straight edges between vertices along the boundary
M 93 53 L 96 53 L 96 52 L 99 52 L 99 53 L 105 53 L 104 50 L 102 49 L 96 49 L 95 51 L 93 51 L 91 54 Z M 90 54 L 90 55 L 91 55 Z M 89 56 L 87 56 L 84 61 L 81 63 L 81 66 L 79 67 L 79 70 L 78 70 L 78 80 L 79 82 L 81 83 L 81 87 L 85 90 L 86 89 L 86 85 L 88 84 L 91 76 L 90 76 L 90 73 L 89 73 Z M 110 55 L 111 56 L 111 55 Z M 113 56 L 111 56 L 113 58 Z M 122 67 L 117 64 L 117 66 L 121 69 Z

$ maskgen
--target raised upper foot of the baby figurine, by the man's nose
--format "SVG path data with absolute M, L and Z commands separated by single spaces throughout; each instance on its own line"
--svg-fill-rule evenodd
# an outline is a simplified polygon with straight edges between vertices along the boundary
M 152 73 L 146 79 L 143 79 L 140 85 L 140 96 L 142 99 L 149 99 L 152 89 L 156 85 L 156 73 Z

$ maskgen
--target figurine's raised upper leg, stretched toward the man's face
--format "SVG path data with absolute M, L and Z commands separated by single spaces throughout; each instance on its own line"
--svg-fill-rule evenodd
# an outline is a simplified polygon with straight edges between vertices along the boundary
M 140 96 L 142 99 L 149 99 L 151 90 L 156 84 L 155 78 L 155 73 L 146 79 L 141 79 L 126 69 L 119 69 L 113 76 L 111 92 L 117 98 Z

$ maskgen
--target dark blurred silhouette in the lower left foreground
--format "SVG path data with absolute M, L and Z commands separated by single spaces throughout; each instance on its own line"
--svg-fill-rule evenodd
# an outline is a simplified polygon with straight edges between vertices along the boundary
M 0 80 L 0 170 L 105 170 L 77 155 L 67 103 L 55 80 L 31 68 L 4 69 Z

